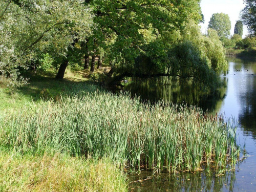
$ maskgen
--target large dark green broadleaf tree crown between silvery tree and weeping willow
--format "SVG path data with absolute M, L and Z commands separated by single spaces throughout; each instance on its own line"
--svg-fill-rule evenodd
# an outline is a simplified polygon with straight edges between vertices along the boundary
M 182 29 L 189 19 L 195 23 L 202 21 L 200 0 L 86 2 L 94 10 L 94 22 L 98 25 L 87 44 L 89 53 L 98 55 L 99 48 L 104 47 L 108 50 L 104 56 L 122 72 L 143 71 L 143 66 L 134 66 L 138 56 L 151 54 L 154 60 L 154 55 L 166 51 L 160 40 L 163 36 Z

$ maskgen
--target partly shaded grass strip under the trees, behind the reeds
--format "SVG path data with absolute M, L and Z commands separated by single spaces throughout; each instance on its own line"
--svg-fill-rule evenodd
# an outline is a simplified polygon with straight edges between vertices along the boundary
M 103 70 L 95 70 L 95 73 Z M 47 71 L 37 74 L 26 73 L 29 78 L 27 85 L 19 88 L 10 88 L 8 79 L 0 79 L 0 111 L 20 109 L 41 99 L 54 101 L 59 100 L 60 95 L 84 95 L 88 92 L 95 92 L 102 89 L 102 83 L 90 79 L 89 70 L 71 72 L 66 70 L 62 80 L 55 79 L 56 72 Z

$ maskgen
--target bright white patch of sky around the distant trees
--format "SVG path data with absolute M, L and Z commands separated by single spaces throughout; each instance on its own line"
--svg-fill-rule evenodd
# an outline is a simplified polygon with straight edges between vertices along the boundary
M 204 15 L 204 24 L 200 24 L 201 32 L 206 33 L 210 17 L 214 13 L 228 14 L 231 21 L 230 35 L 234 34 L 234 25 L 240 20 L 240 11 L 245 7 L 243 0 L 201 0 L 201 9 Z M 247 35 L 247 28 L 244 26 L 243 37 Z

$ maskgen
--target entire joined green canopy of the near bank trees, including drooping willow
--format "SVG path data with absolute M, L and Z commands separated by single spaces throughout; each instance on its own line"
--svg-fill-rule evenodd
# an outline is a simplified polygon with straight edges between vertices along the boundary
M 197 26 L 200 0 L 5 0 L 0 6 L 1 75 L 17 78 L 20 68 L 39 60 L 42 70 L 61 63 L 63 78 L 68 63 L 84 55 L 104 56 L 116 76 L 206 83 L 226 69 L 217 32 L 204 36 Z

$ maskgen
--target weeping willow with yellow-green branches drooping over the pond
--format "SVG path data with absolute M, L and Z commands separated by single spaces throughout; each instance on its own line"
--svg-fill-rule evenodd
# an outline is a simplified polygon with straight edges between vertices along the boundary
M 180 31 L 179 42 L 168 52 L 168 72 L 180 79 L 191 79 L 215 90 L 219 74 L 228 69 L 225 50 L 216 30 L 203 35 L 193 22 Z

